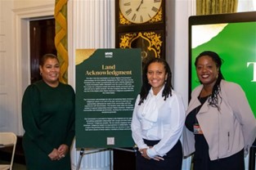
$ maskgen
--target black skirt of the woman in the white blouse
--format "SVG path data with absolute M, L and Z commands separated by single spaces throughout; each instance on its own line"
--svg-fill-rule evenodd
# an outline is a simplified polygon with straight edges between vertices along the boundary
M 144 140 L 146 145 L 156 145 L 159 141 Z M 137 170 L 181 170 L 182 169 L 182 144 L 177 141 L 172 150 L 164 155 L 164 160 L 156 161 L 155 159 L 145 159 L 137 151 L 136 169 Z

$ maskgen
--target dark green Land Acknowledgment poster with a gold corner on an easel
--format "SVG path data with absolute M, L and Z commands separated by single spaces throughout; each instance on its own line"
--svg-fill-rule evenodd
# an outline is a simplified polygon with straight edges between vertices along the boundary
M 131 121 L 141 88 L 140 49 L 78 49 L 77 148 L 132 147 Z

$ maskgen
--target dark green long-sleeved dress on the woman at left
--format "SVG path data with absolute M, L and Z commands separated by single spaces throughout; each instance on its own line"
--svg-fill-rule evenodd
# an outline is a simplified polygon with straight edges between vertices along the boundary
M 74 139 L 74 89 L 43 80 L 29 85 L 22 100 L 23 148 L 27 170 L 70 170 L 70 152 L 52 161 L 48 154 Z

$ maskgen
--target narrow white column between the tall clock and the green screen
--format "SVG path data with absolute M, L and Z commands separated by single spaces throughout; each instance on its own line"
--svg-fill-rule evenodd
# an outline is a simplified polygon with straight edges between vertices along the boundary
M 185 105 L 188 104 L 188 48 L 186 48 L 189 36 L 188 18 L 195 15 L 195 2 L 195 0 L 175 0 L 174 89 L 182 94 Z M 183 159 L 182 170 L 188 170 L 190 166 L 191 157 Z

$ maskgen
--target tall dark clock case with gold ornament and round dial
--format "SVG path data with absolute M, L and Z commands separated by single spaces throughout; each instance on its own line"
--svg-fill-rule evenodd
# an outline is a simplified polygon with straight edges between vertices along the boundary
M 165 58 L 164 0 L 115 0 L 115 47 L 141 48 L 143 63 Z

